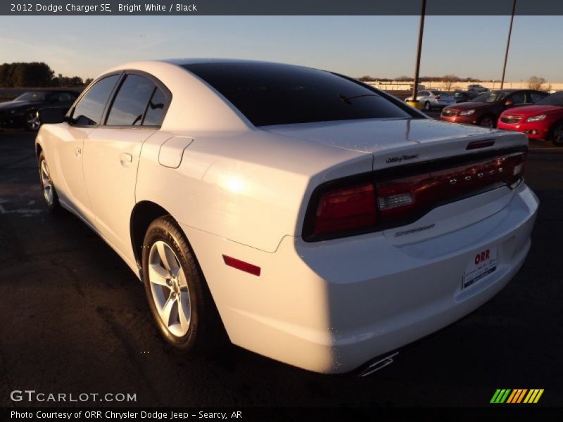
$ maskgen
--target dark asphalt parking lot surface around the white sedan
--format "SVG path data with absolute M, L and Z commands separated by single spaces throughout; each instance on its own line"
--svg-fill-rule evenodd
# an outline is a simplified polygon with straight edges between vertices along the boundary
M 0 404 L 13 390 L 135 393 L 136 406 L 486 406 L 497 388 L 563 404 L 563 149 L 534 143 L 540 198 L 524 267 L 493 300 L 367 378 L 322 376 L 238 347 L 160 340 L 141 283 L 79 219 L 46 212 L 34 136 L 0 131 Z M 99 403 L 84 403 L 99 405 Z M 110 403 L 115 404 L 115 403 Z

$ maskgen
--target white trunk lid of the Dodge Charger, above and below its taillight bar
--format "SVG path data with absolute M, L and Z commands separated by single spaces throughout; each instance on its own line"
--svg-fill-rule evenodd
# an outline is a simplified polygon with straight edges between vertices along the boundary
M 517 132 L 501 132 L 431 119 L 355 120 L 292 124 L 261 129 L 336 148 L 372 153 L 373 169 L 376 171 L 417 162 L 525 146 L 528 143 L 526 136 Z M 494 141 L 494 143 L 484 148 L 467 149 L 469 143 L 477 141 Z M 435 207 L 415 222 L 385 229 L 383 234 L 390 243 L 397 246 L 445 236 L 493 215 L 500 215 L 500 211 L 512 200 L 513 193 L 514 191 L 508 187 L 496 188 L 469 198 L 453 200 Z M 494 225 L 495 222 L 475 224 L 472 236 L 457 238 L 457 243 L 455 245 L 448 243 L 448 248 L 455 250 L 474 243 L 476 238 L 484 236 L 486 231 L 491 230 L 491 224 Z

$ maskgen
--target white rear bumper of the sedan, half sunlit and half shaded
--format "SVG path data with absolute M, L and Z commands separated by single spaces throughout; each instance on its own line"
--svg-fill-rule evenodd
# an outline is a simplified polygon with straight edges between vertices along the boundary
M 538 201 L 525 184 L 507 206 L 463 229 L 393 245 L 386 234 L 261 252 L 187 226 L 229 338 L 281 362 L 343 373 L 472 312 L 499 292 L 530 248 Z M 467 264 L 498 248 L 497 269 L 462 289 Z M 230 255 L 259 277 L 225 267 Z

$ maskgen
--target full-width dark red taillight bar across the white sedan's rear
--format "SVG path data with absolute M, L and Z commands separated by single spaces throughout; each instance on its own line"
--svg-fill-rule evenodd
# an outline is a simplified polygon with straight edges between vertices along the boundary
M 375 181 L 376 172 L 363 183 L 327 184 L 312 199 L 303 238 L 315 241 L 408 224 L 439 205 L 500 186 L 514 188 L 524 177 L 525 164 L 526 153 L 514 153 L 450 168 L 443 168 L 447 162 L 426 165 L 415 174 L 381 181 Z

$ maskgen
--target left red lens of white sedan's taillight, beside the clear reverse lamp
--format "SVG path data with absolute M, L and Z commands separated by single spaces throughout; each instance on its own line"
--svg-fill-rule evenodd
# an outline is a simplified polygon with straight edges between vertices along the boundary
M 315 234 L 372 226 L 376 222 L 374 185 L 365 183 L 324 193 L 315 217 Z

